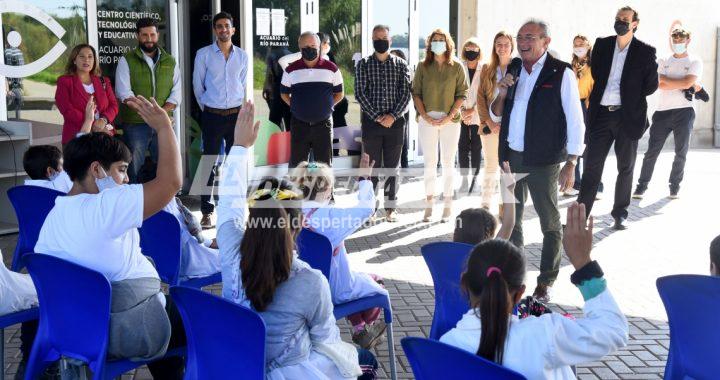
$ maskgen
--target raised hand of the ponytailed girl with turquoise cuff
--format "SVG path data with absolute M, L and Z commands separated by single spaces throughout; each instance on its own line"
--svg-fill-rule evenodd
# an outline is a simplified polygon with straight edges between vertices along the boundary
M 591 261 L 593 218 L 586 218 L 582 203 L 573 202 L 567 212 L 563 248 L 570 263 L 578 270 Z

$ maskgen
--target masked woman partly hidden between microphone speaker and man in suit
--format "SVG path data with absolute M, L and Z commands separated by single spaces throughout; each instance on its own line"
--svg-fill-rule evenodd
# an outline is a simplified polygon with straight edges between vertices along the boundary
M 572 68 L 575 76 L 578 80 L 578 90 L 580 92 L 580 105 L 583 110 L 583 118 L 585 119 L 585 125 L 587 125 L 587 107 L 589 104 L 590 92 L 592 92 L 595 81 L 592 78 L 592 45 L 590 40 L 582 34 L 578 34 L 573 38 L 573 59 Z M 587 133 L 587 129 L 585 130 Z M 587 140 L 587 138 L 585 139 Z M 567 189 L 563 194 L 568 196 L 577 195 L 580 192 L 580 183 L 582 178 L 582 172 L 580 167 L 582 165 L 582 156 L 578 157 L 578 164 L 575 165 L 575 185 L 571 189 Z M 598 192 L 595 196 L 596 199 L 602 197 L 603 184 L 602 181 L 598 186 Z

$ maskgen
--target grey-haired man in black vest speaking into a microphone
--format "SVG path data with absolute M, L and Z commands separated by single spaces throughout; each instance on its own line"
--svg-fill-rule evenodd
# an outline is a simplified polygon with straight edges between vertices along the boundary
M 520 58 L 508 66 L 490 105 L 490 116 L 500 123 L 500 162 L 509 161 L 514 173 L 527 175 L 515 186 L 518 204 L 510 241 L 523 247 L 528 190 L 540 218 L 542 258 L 533 295 L 544 302 L 560 270 L 558 184 L 560 191 L 573 185 L 577 157 L 585 147 L 577 80 L 568 63 L 547 53 L 549 44 L 547 23 L 531 19 L 523 24 L 517 35 Z

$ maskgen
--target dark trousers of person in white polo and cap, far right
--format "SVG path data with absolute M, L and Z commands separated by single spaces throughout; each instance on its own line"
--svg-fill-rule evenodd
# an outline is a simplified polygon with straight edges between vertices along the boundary
M 653 123 L 650 126 L 650 141 L 648 150 L 643 158 L 643 167 L 640 171 L 638 186 L 646 188 L 652 178 L 655 162 L 665 145 L 665 140 L 672 132 L 675 139 L 675 159 L 670 171 L 670 188 L 680 188 L 685 175 L 685 161 L 690 147 L 690 133 L 695 122 L 695 110 L 692 107 L 679 108 L 667 111 L 657 111 L 653 114 Z

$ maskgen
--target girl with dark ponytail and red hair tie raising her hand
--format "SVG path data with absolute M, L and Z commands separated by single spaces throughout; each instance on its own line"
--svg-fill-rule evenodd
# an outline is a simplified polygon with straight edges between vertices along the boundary
M 525 292 L 525 258 L 512 243 L 493 239 L 473 249 L 461 285 L 472 309 L 440 341 L 476 353 L 528 379 L 574 379 L 571 366 L 598 360 L 623 347 L 628 324 L 590 259 L 592 217 L 585 206 L 568 209 L 563 246 L 575 267 L 571 281 L 585 299 L 585 317 L 557 313 L 519 319 L 513 306 Z

